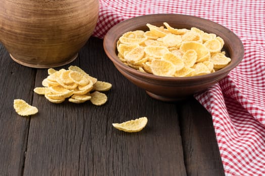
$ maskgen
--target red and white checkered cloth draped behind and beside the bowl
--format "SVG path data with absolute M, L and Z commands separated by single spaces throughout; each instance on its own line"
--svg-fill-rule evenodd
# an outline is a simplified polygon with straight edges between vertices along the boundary
M 243 61 L 195 98 L 213 116 L 226 175 L 265 175 L 265 1 L 100 0 L 93 36 L 140 15 L 175 13 L 201 17 L 242 40 Z

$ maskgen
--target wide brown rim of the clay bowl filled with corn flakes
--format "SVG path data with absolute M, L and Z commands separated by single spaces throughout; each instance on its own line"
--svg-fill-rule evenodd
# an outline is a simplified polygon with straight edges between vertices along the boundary
M 165 21 L 163 20 L 164 18 L 168 18 L 169 20 Z M 235 62 L 232 62 L 227 65 L 226 67 L 214 72 L 214 73 L 209 73 L 209 74 L 204 74 L 204 75 L 199 75 L 199 76 L 188 76 L 188 77 L 174 77 L 174 76 L 158 76 L 150 73 L 144 73 L 140 72 L 134 68 L 131 68 L 130 66 L 124 64 L 117 56 L 116 54 L 116 43 L 122 34 L 128 31 L 135 30 L 135 28 L 139 28 L 140 26 L 146 25 L 147 23 L 163 23 L 167 22 L 170 24 L 170 22 L 176 22 L 174 19 L 185 19 L 185 20 L 196 20 L 199 23 L 205 23 L 205 26 L 207 25 L 215 25 L 218 26 L 220 29 L 223 30 L 222 33 L 229 34 L 233 36 L 233 42 L 234 45 L 238 45 L 241 49 L 238 51 L 235 51 L 235 54 L 230 56 L 231 59 L 234 57 L 237 57 Z M 144 19 L 145 22 L 139 21 L 139 19 Z M 131 25 L 131 24 L 134 25 Z M 195 25 L 194 25 L 195 26 Z M 123 33 L 116 34 L 116 31 L 120 29 L 123 30 Z M 205 31 L 205 30 L 203 30 Z M 205 31 L 207 32 L 207 31 Z M 107 43 L 113 42 L 115 45 L 109 46 Z M 226 46 L 226 42 L 225 42 Z M 113 26 L 107 34 L 104 36 L 103 39 L 103 48 L 107 56 L 113 61 L 114 65 L 117 67 L 120 67 L 122 70 L 127 71 L 133 75 L 139 76 L 139 77 L 145 77 L 148 79 L 156 79 L 156 80 L 161 80 L 161 81 L 191 81 L 191 80 L 201 80 L 203 81 L 204 79 L 209 79 L 209 78 L 215 78 L 215 77 L 220 77 L 221 75 L 228 74 L 233 68 L 235 68 L 243 59 L 244 56 L 244 46 L 242 41 L 239 39 L 239 37 L 233 33 L 230 29 L 207 19 L 203 19 L 200 17 L 196 16 L 190 16 L 190 15 L 183 15 L 183 14 L 150 14 L 150 15 L 142 15 L 142 16 L 137 16 L 130 18 L 128 20 L 122 21 L 115 26 Z M 227 48 L 229 51 L 232 50 L 232 48 Z

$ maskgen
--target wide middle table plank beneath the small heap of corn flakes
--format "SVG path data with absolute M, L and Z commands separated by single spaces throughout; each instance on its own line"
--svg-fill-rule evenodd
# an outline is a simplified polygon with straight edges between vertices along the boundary
M 90 38 L 71 64 L 111 82 L 109 100 L 99 107 L 57 105 L 34 95 L 39 113 L 30 122 L 24 175 L 186 175 L 175 104 L 153 100 L 130 83 L 105 56 L 100 39 Z M 35 86 L 45 76 L 38 69 Z M 139 133 L 112 127 L 142 116 L 149 121 Z

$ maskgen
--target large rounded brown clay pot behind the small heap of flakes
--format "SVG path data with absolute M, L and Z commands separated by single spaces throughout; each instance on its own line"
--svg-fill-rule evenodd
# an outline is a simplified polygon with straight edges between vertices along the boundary
M 98 9 L 98 0 L 2 0 L 0 41 L 22 65 L 62 66 L 92 35 Z

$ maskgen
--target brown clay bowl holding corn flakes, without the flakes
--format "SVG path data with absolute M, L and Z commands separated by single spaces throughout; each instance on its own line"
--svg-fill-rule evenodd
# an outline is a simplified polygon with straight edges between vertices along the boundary
M 224 50 L 232 61 L 225 68 L 214 73 L 190 77 L 167 77 L 143 73 L 120 61 L 117 56 L 116 43 L 122 34 L 134 30 L 146 31 L 149 30 L 146 27 L 147 23 L 163 26 L 164 22 L 174 28 L 196 27 L 222 37 L 225 41 Z M 103 46 L 105 53 L 126 78 L 144 89 L 150 97 L 161 101 L 182 100 L 208 89 L 235 68 L 244 55 L 241 40 L 229 29 L 209 20 L 178 14 L 145 15 L 123 21 L 108 31 L 104 37 Z

